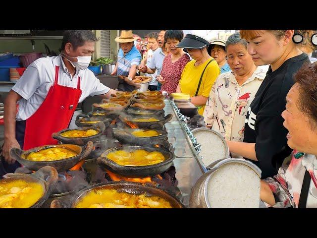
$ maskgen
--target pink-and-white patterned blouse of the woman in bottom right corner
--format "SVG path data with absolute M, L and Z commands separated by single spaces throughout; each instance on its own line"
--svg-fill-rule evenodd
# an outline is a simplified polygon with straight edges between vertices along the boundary
M 317 158 L 315 155 L 305 154 L 303 157 L 296 159 L 298 151 L 293 151 L 287 157 L 278 170 L 278 174 L 273 178 L 263 179 L 268 183 L 275 197 L 274 206 L 265 203 L 267 207 L 286 208 L 293 206 L 298 207 L 301 194 L 303 179 L 306 170 L 310 173 L 311 183 L 308 190 L 307 208 L 317 208 Z

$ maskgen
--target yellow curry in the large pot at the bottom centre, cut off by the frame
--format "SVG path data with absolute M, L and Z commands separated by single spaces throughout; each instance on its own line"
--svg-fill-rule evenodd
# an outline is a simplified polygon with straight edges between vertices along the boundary
M 159 196 L 129 194 L 115 189 L 95 189 L 84 196 L 75 208 L 172 208 Z

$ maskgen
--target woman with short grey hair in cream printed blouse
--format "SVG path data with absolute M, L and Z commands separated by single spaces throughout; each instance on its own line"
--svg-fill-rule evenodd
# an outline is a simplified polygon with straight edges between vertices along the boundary
M 224 139 L 243 141 L 248 108 L 263 82 L 266 66 L 256 66 L 248 53 L 247 42 L 234 33 L 226 41 L 228 63 L 232 72 L 220 74 L 204 111 L 205 123 Z M 237 158 L 238 155 L 233 154 Z

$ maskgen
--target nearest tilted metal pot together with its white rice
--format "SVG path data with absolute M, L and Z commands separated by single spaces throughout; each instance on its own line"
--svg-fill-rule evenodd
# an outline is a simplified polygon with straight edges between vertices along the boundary
M 192 188 L 191 208 L 259 208 L 261 170 L 245 159 L 215 161 Z

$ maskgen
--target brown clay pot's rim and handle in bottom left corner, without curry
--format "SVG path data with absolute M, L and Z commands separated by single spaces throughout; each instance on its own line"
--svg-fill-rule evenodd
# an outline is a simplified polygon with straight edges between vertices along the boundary
M 44 193 L 42 197 L 34 203 L 29 208 L 39 208 L 43 205 L 43 203 L 49 198 L 53 189 L 57 185 L 58 182 L 58 174 L 57 171 L 50 166 L 43 167 L 33 174 L 6 174 L 3 176 L 1 182 L 5 181 L 13 181 L 13 180 L 25 180 L 28 182 L 36 182 L 40 183 L 43 187 Z

